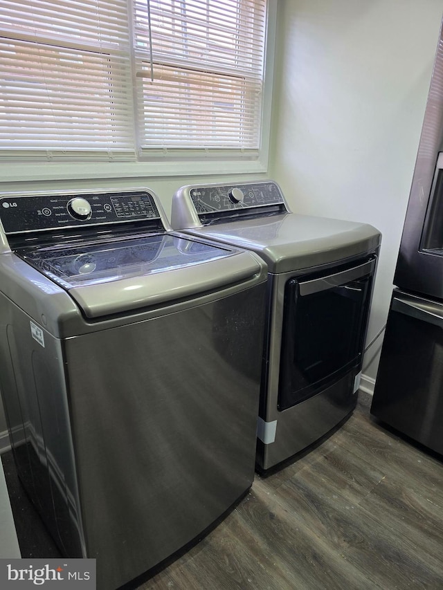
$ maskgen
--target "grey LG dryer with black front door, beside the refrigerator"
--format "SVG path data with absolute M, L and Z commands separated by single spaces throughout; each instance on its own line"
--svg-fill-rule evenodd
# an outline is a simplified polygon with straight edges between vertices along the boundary
M 257 253 L 269 269 L 257 470 L 316 443 L 354 409 L 381 235 L 292 213 L 273 181 L 189 185 L 172 228 Z

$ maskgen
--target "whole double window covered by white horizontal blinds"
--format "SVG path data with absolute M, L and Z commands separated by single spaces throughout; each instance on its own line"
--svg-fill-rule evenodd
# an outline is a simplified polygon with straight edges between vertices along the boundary
M 256 158 L 266 0 L 1 0 L 1 160 Z

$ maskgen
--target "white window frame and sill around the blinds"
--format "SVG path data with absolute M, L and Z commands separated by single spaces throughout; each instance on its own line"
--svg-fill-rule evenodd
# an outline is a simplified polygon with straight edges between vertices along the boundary
M 146 178 L 170 176 L 212 176 L 223 174 L 260 174 L 267 172 L 269 163 L 269 136 L 271 129 L 271 102 L 273 90 L 273 65 L 275 55 L 275 29 L 277 2 L 268 0 L 266 10 L 266 36 L 264 50 L 264 81 L 260 148 L 255 154 L 241 159 L 229 149 L 168 149 L 152 150 L 149 155 L 129 161 L 114 158 L 109 152 L 104 160 L 84 159 L 84 154 L 54 160 L 36 161 L 26 154 L 20 160 L 0 162 L 0 182 L 79 180 L 93 178 Z M 134 59 L 134 56 L 132 57 Z M 135 77 L 135 68 L 132 68 Z M 135 80 L 133 82 L 135 84 Z M 134 106 L 134 109 L 136 107 Z M 24 150 L 26 151 L 26 150 Z M 136 148 L 138 152 L 138 148 Z M 189 154 L 183 154 L 188 151 Z M 245 153 L 247 150 L 245 150 Z

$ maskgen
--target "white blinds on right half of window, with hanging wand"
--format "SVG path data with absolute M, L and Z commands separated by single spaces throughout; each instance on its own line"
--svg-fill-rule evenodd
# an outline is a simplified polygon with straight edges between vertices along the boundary
M 142 149 L 260 147 L 264 0 L 135 0 Z

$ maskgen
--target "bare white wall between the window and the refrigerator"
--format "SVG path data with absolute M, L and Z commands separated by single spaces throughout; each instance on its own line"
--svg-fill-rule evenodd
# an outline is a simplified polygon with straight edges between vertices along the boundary
M 279 0 L 269 174 L 294 212 L 382 232 L 367 342 L 388 314 L 442 14 L 442 0 Z

